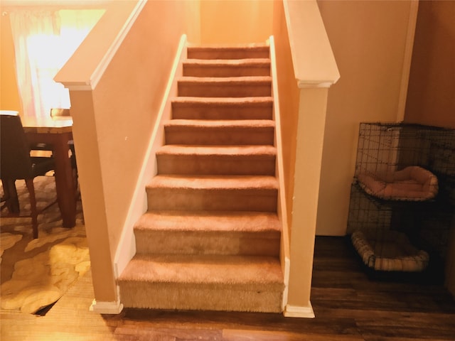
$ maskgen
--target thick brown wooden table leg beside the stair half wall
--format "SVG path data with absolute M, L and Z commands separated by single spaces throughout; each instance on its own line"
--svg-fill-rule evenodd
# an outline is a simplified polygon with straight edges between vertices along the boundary
M 62 213 L 63 227 L 74 227 L 76 224 L 76 189 L 73 181 L 73 169 L 68 157 L 68 136 L 65 134 L 55 135 L 58 135 L 60 140 L 53 144 L 58 207 Z

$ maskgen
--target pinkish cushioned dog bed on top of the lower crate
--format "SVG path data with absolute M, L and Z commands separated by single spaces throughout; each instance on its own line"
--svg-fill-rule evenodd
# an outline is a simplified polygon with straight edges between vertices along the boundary
M 438 179 L 419 166 L 409 166 L 387 175 L 363 173 L 358 183 L 366 193 L 385 200 L 424 201 L 438 193 Z

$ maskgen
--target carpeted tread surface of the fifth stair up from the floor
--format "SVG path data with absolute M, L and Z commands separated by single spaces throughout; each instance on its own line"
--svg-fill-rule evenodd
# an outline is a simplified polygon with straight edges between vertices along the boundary
M 191 128 L 274 128 L 271 119 L 171 119 L 164 126 Z

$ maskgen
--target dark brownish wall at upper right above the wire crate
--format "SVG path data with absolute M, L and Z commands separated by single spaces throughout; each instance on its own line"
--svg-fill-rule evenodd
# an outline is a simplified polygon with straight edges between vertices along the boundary
M 405 121 L 455 127 L 455 1 L 420 1 Z

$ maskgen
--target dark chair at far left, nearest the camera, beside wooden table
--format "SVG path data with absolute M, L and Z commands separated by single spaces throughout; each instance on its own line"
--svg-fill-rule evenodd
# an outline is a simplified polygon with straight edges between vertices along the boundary
M 0 178 L 4 188 L 4 204 L 9 210 L 6 217 L 31 217 L 33 238 L 38 238 L 38 214 L 54 202 L 39 210 L 36 207 L 35 186 L 33 179 L 53 171 L 52 157 L 31 157 L 31 147 L 23 131 L 21 118 L 11 115 L 0 115 Z M 31 203 L 31 214 L 21 215 L 16 192 L 16 180 L 25 180 Z

